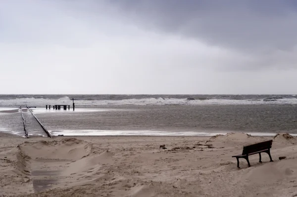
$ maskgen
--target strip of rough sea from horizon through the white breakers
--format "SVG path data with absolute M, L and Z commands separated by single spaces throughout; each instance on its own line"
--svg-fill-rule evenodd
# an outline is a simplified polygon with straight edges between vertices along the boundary
M 0 95 L 0 107 L 43 107 L 72 104 L 79 107 L 117 105 L 282 105 L 297 104 L 297 95 Z M 192 98 L 195 100 L 187 100 Z

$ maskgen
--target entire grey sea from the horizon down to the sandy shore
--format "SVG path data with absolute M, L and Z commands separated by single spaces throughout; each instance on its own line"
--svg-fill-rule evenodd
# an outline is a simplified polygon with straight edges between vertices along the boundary
M 75 110 L 72 104 L 75 103 Z M 46 109 L 69 105 L 70 110 Z M 22 108 L 22 110 L 20 109 Z M 0 95 L 0 132 L 51 135 L 297 135 L 297 95 Z

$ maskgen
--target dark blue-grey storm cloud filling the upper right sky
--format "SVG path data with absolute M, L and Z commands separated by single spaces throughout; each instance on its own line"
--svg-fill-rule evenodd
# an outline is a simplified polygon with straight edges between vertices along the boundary
M 113 0 L 141 28 L 249 53 L 292 51 L 295 0 Z

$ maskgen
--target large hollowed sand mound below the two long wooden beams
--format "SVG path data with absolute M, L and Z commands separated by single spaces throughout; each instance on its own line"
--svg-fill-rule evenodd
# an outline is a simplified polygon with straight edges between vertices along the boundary
M 98 154 L 91 143 L 76 138 L 24 142 L 18 148 L 17 169 L 31 175 L 35 192 L 87 184 L 112 159 L 112 153 Z

